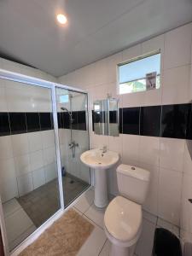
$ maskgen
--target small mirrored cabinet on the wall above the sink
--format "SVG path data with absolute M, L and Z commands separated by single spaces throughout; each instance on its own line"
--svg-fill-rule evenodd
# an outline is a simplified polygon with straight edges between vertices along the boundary
M 94 102 L 92 122 L 96 134 L 119 136 L 118 100 L 108 98 Z

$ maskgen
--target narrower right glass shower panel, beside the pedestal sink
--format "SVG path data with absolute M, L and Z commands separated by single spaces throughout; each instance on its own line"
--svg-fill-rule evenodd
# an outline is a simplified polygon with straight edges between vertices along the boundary
M 61 154 L 61 175 L 65 207 L 90 186 L 90 168 L 80 161 L 89 150 L 87 94 L 56 87 Z

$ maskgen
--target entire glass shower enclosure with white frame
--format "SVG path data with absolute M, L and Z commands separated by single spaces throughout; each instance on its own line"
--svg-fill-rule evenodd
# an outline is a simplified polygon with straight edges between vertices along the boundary
M 0 227 L 12 252 L 90 186 L 87 94 L 0 70 Z

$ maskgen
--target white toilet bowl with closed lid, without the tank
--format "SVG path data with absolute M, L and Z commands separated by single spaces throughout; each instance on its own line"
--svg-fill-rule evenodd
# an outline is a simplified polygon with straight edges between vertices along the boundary
M 110 256 L 132 256 L 142 231 L 142 207 L 117 196 L 108 205 L 104 224 L 111 242 Z

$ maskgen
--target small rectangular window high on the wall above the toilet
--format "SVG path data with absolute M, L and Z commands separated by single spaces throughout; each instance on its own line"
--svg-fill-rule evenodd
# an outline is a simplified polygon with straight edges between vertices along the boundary
M 160 88 L 160 53 L 119 64 L 119 94 Z

